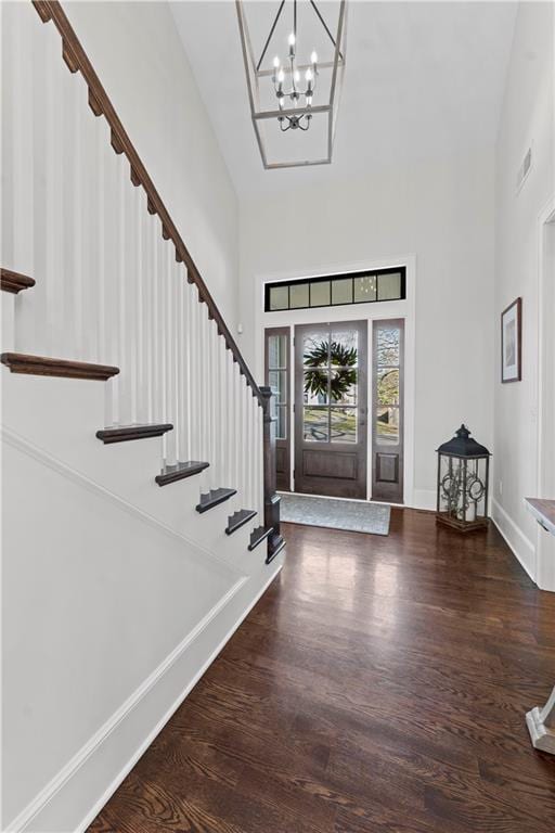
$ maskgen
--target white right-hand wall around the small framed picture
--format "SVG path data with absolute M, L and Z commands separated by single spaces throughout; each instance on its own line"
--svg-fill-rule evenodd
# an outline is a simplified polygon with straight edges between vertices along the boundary
M 539 578 L 537 528 L 522 499 L 538 490 L 538 219 L 555 196 L 553 43 L 553 4 L 521 3 L 495 166 L 495 319 L 521 296 L 524 320 L 522 381 L 502 385 L 499 359 L 495 361 L 494 516 L 534 579 Z M 517 170 L 530 144 L 533 167 L 516 194 Z M 501 349 L 499 330 L 496 326 L 495 357 Z

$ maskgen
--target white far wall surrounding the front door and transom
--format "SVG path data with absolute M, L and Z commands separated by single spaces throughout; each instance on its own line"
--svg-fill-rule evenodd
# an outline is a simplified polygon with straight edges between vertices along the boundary
M 437 446 L 461 422 L 492 443 L 492 150 L 245 204 L 240 346 L 261 373 L 255 322 L 264 278 L 388 258 L 395 265 L 405 254 L 416 258 L 414 502 L 433 508 Z M 387 315 L 387 306 L 370 313 Z M 353 320 L 362 316 L 362 305 L 352 309 Z M 272 325 L 272 313 L 263 319 Z

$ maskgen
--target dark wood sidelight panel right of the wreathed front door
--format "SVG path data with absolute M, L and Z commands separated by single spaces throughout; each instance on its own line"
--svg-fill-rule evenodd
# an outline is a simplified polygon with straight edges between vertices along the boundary
M 403 502 L 404 321 L 373 322 L 372 499 Z

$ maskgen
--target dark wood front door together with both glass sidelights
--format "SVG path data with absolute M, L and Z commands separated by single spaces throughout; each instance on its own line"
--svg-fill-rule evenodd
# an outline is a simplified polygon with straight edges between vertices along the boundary
M 264 354 L 278 488 L 402 503 L 404 319 L 270 328 Z

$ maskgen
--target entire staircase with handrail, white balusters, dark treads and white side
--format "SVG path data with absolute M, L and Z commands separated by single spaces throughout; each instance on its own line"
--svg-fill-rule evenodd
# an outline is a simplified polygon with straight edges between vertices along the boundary
M 275 427 L 62 5 L 2 25 L 2 829 L 74 830 L 278 575 Z

